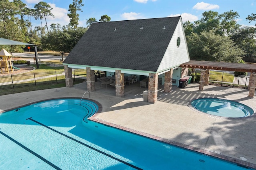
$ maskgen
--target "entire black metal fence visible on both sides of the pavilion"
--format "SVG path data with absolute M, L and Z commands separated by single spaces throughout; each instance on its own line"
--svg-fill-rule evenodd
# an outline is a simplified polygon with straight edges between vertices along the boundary
M 200 81 L 200 70 L 196 70 L 191 82 Z M 74 82 L 84 82 L 86 80 L 86 70 L 73 69 L 72 77 Z M 233 88 L 247 89 L 250 75 L 234 76 L 228 72 L 210 71 L 209 84 L 215 86 L 226 86 Z M 8 74 L 0 76 L 0 90 L 21 88 L 27 86 L 50 85 L 65 83 L 64 70 L 51 72 L 32 72 L 22 74 Z

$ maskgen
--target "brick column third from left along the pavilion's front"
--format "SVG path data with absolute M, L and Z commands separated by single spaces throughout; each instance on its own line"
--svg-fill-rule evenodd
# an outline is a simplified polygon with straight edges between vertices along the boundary
M 116 70 L 116 96 L 124 96 L 124 73 L 121 70 Z

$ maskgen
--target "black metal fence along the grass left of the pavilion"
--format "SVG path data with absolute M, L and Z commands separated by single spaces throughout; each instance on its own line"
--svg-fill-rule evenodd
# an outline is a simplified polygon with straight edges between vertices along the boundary
M 72 77 L 74 82 L 83 82 L 86 80 L 86 70 L 74 69 L 72 70 Z M 0 90 L 61 83 L 65 83 L 64 70 L 0 76 Z

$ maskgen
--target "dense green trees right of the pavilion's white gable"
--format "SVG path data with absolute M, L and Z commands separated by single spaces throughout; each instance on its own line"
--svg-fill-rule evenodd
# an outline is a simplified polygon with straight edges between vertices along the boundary
M 238 17 L 233 10 L 223 14 L 210 10 L 194 23 L 184 22 L 190 59 L 242 63 L 242 59 L 255 58 L 256 27 L 239 25 Z M 246 20 L 256 21 L 256 15 L 248 15 Z

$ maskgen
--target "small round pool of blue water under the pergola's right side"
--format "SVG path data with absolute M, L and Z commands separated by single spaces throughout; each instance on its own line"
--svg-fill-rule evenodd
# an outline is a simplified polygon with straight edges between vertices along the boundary
M 244 104 L 219 98 L 196 99 L 191 105 L 204 113 L 222 117 L 248 117 L 254 113 Z

